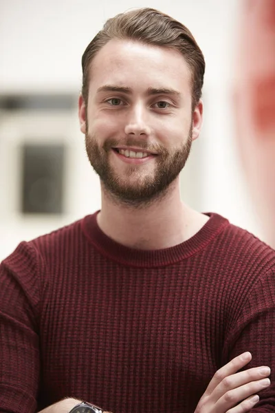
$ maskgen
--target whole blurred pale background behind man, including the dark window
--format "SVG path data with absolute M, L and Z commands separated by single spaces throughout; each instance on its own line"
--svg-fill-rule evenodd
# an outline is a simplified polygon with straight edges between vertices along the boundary
M 139 7 L 184 23 L 206 59 L 203 131 L 181 173 L 182 198 L 263 239 L 236 149 L 239 0 L 0 0 L 0 260 L 100 209 L 78 127 L 81 56 L 106 19 Z

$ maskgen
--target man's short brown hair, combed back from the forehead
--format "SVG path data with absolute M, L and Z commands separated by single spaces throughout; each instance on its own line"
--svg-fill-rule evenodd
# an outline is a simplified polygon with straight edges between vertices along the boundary
M 129 39 L 179 51 L 192 72 L 192 107 L 197 105 L 203 87 L 205 70 L 203 54 L 186 26 L 153 8 L 131 10 L 107 20 L 102 30 L 89 43 L 82 57 L 82 94 L 86 104 L 91 61 L 111 39 Z

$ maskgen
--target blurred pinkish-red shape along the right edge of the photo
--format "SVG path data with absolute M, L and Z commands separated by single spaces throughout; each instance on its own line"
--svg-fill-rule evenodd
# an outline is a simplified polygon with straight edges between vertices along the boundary
M 234 107 L 243 167 L 265 240 L 275 248 L 275 0 L 243 2 Z

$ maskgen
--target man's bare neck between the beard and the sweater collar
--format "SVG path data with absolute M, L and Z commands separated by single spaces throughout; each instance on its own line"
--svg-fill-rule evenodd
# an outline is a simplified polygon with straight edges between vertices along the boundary
M 179 179 L 166 194 L 145 207 L 113 202 L 102 189 L 100 229 L 116 242 L 130 248 L 154 250 L 169 248 L 188 240 L 208 220 L 181 202 Z

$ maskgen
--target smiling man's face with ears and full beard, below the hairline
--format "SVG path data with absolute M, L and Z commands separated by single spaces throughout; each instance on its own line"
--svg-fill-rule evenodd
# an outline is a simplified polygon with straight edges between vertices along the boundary
M 177 178 L 201 127 L 188 65 L 175 50 L 111 40 L 90 78 L 79 116 L 91 165 L 118 200 L 151 202 Z

